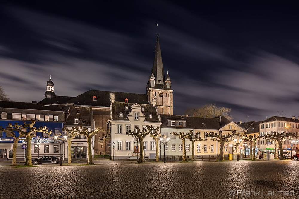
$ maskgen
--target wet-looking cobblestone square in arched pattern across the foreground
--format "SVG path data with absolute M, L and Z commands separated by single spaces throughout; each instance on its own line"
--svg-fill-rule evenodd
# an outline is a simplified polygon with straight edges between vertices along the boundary
M 0 166 L 0 198 L 298 198 L 298 171 L 290 160 Z

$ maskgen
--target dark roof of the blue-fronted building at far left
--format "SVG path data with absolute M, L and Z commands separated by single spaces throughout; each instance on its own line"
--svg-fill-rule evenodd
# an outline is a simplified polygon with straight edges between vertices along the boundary
M 0 108 L 62 111 L 62 112 L 68 111 L 68 106 L 36 104 L 36 103 L 15 102 L 15 101 L 0 101 Z

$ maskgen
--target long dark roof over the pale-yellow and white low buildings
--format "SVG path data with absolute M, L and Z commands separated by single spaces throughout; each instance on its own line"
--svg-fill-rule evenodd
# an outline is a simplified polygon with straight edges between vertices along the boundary
M 200 117 L 190 117 L 186 115 L 165 115 L 161 114 L 161 127 L 165 128 L 181 128 L 181 129 L 220 129 L 220 118 L 200 118 Z M 223 116 L 221 117 L 224 118 Z M 168 126 L 167 120 L 182 120 L 186 121 L 186 127 L 179 126 Z M 225 121 L 227 119 L 225 118 Z M 229 120 L 227 120 L 229 121 Z M 205 125 L 203 125 L 204 123 Z

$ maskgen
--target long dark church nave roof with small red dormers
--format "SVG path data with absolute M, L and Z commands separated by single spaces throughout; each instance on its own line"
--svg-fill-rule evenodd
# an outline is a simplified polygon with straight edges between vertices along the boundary
M 83 106 L 110 107 L 110 93 L 115 93 L 115 101 L 124 102 L 125 99 L 128 99 L 129 103 L 149 104 L 147 94 L 101 90 L 89 90 L 77 97 L 56 96 L 59 98 L 45 98 L 39 103 L 54 104 L 58 101 L 59 104 L 74 103 Z M 96 101 L 93 101 L 93 96 L 97 97 Z

